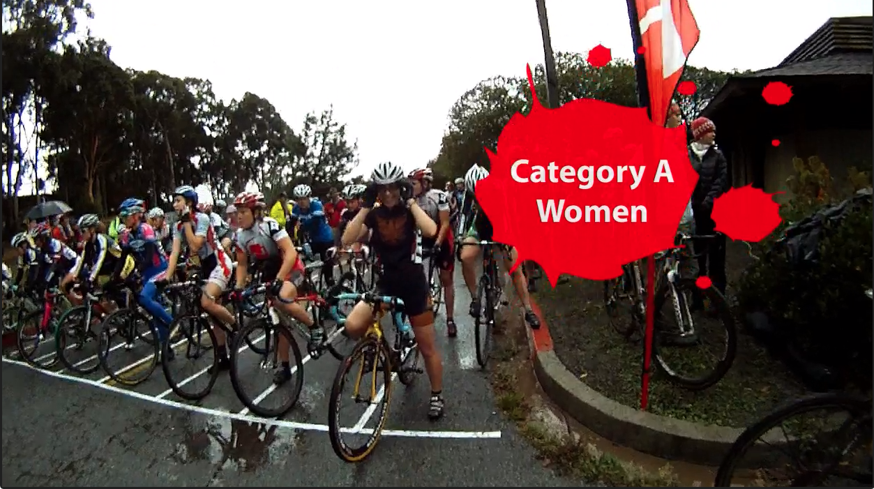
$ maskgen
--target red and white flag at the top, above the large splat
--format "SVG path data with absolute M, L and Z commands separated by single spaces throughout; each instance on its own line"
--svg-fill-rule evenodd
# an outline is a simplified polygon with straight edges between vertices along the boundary
M 686 59 L 701 31 L 689 0 L 634 0 L 646 60 L 649 113 L 663 126 Z

